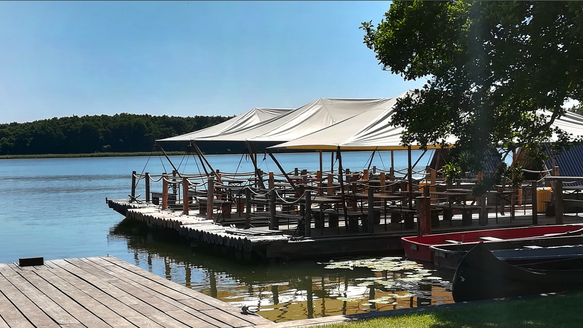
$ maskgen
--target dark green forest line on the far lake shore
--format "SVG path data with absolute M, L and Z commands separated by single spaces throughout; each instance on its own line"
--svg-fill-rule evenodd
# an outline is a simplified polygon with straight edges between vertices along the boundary
M 0 124 L 0 155 L 158 151 L 154 141 L 201 130 L 228 116 L 152 116 L 115 114 L 54 117 L 27 123 Z M 184 142 L 167 142 L 166 151 L 185 151 Z M 229 153 L 215 143 L 210 153 Z M 224 148 L 224 149 L 223 149 Z

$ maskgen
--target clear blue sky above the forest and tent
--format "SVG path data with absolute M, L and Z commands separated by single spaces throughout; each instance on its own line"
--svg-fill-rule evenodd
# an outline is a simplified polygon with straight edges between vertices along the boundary
M 360 22 L 390 2 L 0 2 L 0 123 L 234 115 L 392 97 Z

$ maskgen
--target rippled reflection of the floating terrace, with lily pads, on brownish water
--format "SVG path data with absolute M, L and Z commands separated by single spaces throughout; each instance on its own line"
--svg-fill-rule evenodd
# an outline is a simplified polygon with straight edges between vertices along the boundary
M 453 302 L 451 274 L 400 258 L 248 266 L 127 219 L 109 239 L 127 243 L 132 264 L 275 322 Z

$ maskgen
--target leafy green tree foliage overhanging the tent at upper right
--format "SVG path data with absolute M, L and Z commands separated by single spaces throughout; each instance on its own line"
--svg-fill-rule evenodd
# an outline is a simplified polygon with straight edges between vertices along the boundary
M 391 124 L 405 127 L 404 144 L 453 136 L 449 177 L 482 171 L 488 148 L 521 147 L 540 162 L 543 143 L 559 152 L 575 140 L 552 123 L 566 100 L 583 100 L 583 2 L 394 1 L 361 28 L 383 69 L 429 79 L 398 102 Z M 501 162 L 482 188 L 512 169 L 519 176 Z

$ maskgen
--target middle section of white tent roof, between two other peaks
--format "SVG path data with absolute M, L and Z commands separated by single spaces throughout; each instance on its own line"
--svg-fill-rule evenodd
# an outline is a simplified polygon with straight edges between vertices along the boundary
M 273 120 L 264 121 L 250 128 L 226 132 L 208 138 L 199 138 L 198 140 L 286 142 L 303 137 L 311 132 L 322 130 L 366 111 L 388 109 L 393 103 L 394 100 L 392 98 L 320 98 Z

